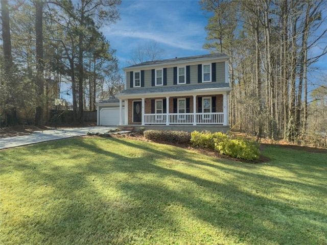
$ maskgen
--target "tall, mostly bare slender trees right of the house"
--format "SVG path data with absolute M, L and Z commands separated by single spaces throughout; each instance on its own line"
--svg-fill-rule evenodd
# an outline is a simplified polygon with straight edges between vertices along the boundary
M 327 2 L 200 3 L 211 15 L 204 47 L 230 56 L 230 125 L 258 139 L 299 143 L 323 136 L 325 144 L 326 74 L 315 62 L 327 52 Z

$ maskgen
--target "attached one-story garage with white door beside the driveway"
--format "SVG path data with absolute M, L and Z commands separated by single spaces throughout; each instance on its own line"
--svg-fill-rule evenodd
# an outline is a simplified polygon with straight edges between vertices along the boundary
M 96 103 L 98 115 L 97 124 L 99 126 L 119 125 L 119 100 L 111 97 L 107 101 Z M 122 108 L 122 122 L 125 121 L 124 103 Z

